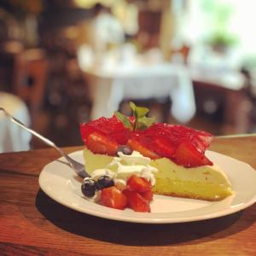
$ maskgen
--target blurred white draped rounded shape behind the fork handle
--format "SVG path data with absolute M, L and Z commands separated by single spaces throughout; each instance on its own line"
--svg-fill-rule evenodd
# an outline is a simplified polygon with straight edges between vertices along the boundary
M 0 107 L 7 110 L 25 125 L 30 125 L 30 115 L 26 104 L 19 97 L 0 92 Z M 30 133 L 21 129 L 20 126 L 6 117 L 3 111 L 0 111 L 0 153 L 28 150 L 30 140 Z

